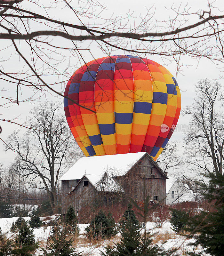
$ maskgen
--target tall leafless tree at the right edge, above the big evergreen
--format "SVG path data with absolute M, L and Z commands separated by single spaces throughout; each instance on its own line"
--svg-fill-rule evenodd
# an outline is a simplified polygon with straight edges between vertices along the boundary
M 184 115 L 191 117 L 191 129 L 186 133 L 187 163 L 200 174 L 216 172 L 224 175 L 224 113 L 221 104 L 221 85 L 218 81 L 200 80 L 196 98 L 187 106 Z

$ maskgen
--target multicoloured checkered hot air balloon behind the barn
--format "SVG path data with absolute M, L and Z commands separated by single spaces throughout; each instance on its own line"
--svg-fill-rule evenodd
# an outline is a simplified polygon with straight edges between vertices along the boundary
M 156 160 L 180 115 L 175 78 L 137 56 L 86 63 L 71 76 L 64 95 L 68 125 L 85 156 L 147 151 Z

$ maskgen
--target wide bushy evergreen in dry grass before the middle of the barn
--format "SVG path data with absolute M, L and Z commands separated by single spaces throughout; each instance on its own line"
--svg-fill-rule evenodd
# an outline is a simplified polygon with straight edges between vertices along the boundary
M 108 239 L 111 236 L 114 236 L 117 232 L 115 225 L 111 226 L 111 217 L 112 216 L 109 216 L 108 219 L 105 213 L 102 210 L 100 210 L 98 214 L 95 216 L 95 218 L 91 220 L 90 225 L 85 228 L 86 237 L 88 239 Z

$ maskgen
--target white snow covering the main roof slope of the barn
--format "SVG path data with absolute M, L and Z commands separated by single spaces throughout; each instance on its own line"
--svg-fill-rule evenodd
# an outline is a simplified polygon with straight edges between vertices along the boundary
M 118 173 L 117 176 L 124 175 L 145 154 L 148 153 L 139 152 L 82 157 L 60 178 L 60 180 L 79 180 L 83 175 L 89 175 L 92 179 L 99 180 L 99 176 L 102 176 L 102 174 L 107 170 L 115 170 L 116 173 Z

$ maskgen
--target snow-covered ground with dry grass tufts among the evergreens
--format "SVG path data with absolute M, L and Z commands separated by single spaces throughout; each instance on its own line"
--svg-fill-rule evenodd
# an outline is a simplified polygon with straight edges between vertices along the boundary
M 51 216 L 52 219 L 55 219 L 55 216 Z M 18 217 L 0 219 L 0 227 L 2 233 L 6 233 L 7 237 L 12 236 L 10 228 L 12 223 L 17 220 Z M 46 217 L 43 217 L 46 218 Z M 30 220 L 29 217 L 26 217 L 26 221 Z M 77 252 L 82 252 L 83 256 L 101 256 L 100 251 L 105 251 L 104 246 L 112 246 L 114 243 L 118 242 L 120 239 L 120 234 L 118 233 L 115 237 L 110 240 L 104 241 L 95 241 L 94 244 L 91 244 L 85 238 L 85 227 L 88 224 L 79 224 L 80 235 L 74 239 L 74 246 L 77 248 Z M 47 239 L 49 237 L 51 227 L 40 227 L 34 229 L 34 235 L 37 242 L 41 247 L 45 247 Z M 155 228 L 154 222 L 147 222 L 147 231 L 153 234 L 153 240 L 155 244 L 164 247 L 165 250 L 178 248 L 177 254 L 180 256 L 187 255 L 186 252 L 200 252 L 202 248 L 200 246 L 194 247 L 189 246 L 188 243 L 193 242 L 193 239 L 186 239 L 184 236 L 177 235 L 170 228 L 170 222 L 167 221 L 163 224 L 162 228 Z M 167 241 L 164 244 L 164 241 Z M 162 245 L 163 244 L 163 245 Z M 42 255 L 40 250 L 37 250 L 35 255 Z M 208 256 L 208 254 L 202 254 L 203 256 Z

